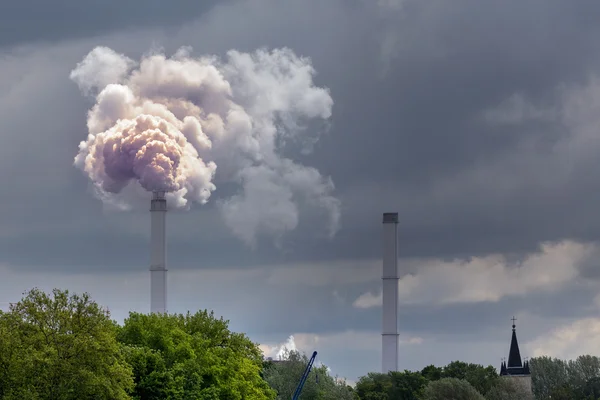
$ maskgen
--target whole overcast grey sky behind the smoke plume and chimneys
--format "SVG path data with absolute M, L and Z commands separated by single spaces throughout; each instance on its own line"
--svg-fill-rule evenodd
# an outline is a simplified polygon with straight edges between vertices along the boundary
M 37 286 L 88 291 L 118 320 L 149 311 L 148 208 L 111 211 L 73 165 L 86 54 L 288 47 L 333 99 L 313 151 L 290 157 L 331 178 L 339 230 L 301 212 L 252 248 L 217 189 L 168 215 L 169 311 L 214 309 L 269 355 L 293 335 L 351 380 L 379 371 L 381 214 L 397 211 L 401 369 L 498 367 L 513 315 L 523 356 L 593 353 L 599 18 L 593 0 L 6 2 L 0 305 Z

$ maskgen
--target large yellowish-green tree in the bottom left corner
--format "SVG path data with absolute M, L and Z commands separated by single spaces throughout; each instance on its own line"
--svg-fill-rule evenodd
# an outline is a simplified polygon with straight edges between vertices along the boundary
M 89 295 L 33 289 L 0 313 L 3 399 L 129 399 L 131 367 Z

